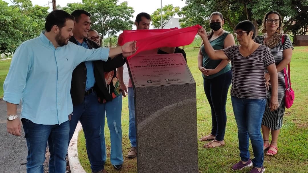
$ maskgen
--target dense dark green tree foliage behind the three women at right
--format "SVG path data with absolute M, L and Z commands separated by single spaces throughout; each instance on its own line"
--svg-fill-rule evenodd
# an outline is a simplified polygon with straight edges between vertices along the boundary
M 250 20 L 258 29 L 264 15 L 271 10 L 278 11 L 283 18 L 284 32 L 301 33 L 300 29 L 307 28 L 307 0 L 186 0 L 186 6 L 181 9 L 181 26 L 201 24 L 209 28 L 209 16 L 219 11 L 225 19 L 225 27 L 233 31 L 236 24 Z M 306 29 L 307 30 L 307 29 Z M 302 33 L 306 31 L 302 29 Z

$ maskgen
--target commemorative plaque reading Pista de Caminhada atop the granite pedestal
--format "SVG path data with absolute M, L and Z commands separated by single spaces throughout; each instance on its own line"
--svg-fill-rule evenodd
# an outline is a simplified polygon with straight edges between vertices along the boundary
M 128 64 L 136 88 L 194 82 L 181 53 L 137 56 Z

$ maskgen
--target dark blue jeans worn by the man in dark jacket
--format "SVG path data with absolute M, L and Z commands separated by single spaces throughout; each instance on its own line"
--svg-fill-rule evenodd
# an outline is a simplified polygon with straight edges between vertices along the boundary
M 70 121 L 70 136 L 72 139 L 78 121 L 80 121 L 84 137 L 86 139 L 87 155 L 91 164 L 91 170 L 98 172 L 104 169 L 105 162 L 102 159 L 102 151 L 100 146 L 100 123 L 101 115 L 99 113 L 102 104 L 98 103 L 95 92 L 84 96 L 84 101 L 74 106 L 73 115 Z

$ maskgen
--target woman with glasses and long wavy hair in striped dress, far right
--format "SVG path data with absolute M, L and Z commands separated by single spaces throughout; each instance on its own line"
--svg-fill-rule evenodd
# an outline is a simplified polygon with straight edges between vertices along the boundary
M 276 11 L 270 11 L 265 14 L 262 23 L 262 33 L 264 35 L 257 36 L 254 41 L 266 45 L 270 48 L 276 61 L 278 72 L 278 102 L 279 107 L 274 111 L 270 111 L 270 97 L 272 96 L 270 75 L 265 72 L 265 79 L 268 84 L 268 99 L 266 102 L 265 112 L 262 118 L 262 134 L 264 140 L 264 150 L 267 150 L 266 155 L 276 155 L 278 152 L 277 141 L 280 129 L 282 128 L 282 118 L 285 114 L 285 96 L 286 91 L 291 89 L 290 75 L 286 74 L 286 65 L 291 61 L 293 46 L 290 38 L 282 34 L 282 18 Z M 289 69 L 290 72 L 290 69 Z M 289 79 L 289 80 L 288 80 Z M 287 88 L 287 90 L 286 90 Z M 294 96 L 294 94 L 293 94 Z M 287 106 L 286 106 L 287 107 Z M 288 107 L 287 107 L 288 108 Z M 272 141 L 269 142 L 270 132 Z

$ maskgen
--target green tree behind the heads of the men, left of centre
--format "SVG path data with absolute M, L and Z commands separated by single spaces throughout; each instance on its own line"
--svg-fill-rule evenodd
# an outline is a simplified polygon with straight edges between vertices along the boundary
M 104 35 L 106 33 L 115 35 L 120 31 L 132 29 L 134 24 L 130 20 L 133 17 L 133 8 L 128 6 L 127 2 L 117 5 L 118 2 L 119 0 L 82 0 L 82 3 L 68 3 L 66 7 L 60 7 L 59 9 L 65 10 L 70 14 L 76 9 L 86 10 L 91 14 L 92 29 Z M 93 8 L 98 10 L 102 17 Z

